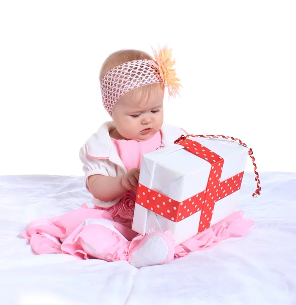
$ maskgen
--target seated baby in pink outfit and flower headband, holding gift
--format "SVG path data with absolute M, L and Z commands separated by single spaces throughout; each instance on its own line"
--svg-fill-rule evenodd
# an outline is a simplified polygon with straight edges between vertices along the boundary
M 135 267 L 166 263 L 211 247 L 252 226 L 243 212 L 231 216 L 174 247 L 167 232 L 137 235 L 131 229 L 142 155 L 164 147 L 186 132 L 163 123 L 165 88 L 179 93 L 171 51 L 154 59 L 137 50 L 111 54 L 104 62 L 101 91 L 112 120 L 104 123 L 80 149 L 84 184 L 94 208 L 83 204 L 61 216 L 33 220 L 21 232 L 36 254 L 63 253 L 79 259 L 124 260 Z

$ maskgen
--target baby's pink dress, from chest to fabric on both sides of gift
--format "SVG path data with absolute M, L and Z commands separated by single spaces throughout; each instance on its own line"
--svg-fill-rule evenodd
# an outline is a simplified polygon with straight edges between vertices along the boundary
M 113 144 L 127 170 L 140 168 L 142 155 L 161 146 L 161 133 L 147 141 L 115 140 Z M 65 253 L 79 259 L 99 258 L 128 261 L 129 249 L 138 242 L 131 230 L 136 189 L 127 192 L 109 208 L 95 206 L 67 212 L 61 216 L 32 221 L 21 236 L 27 238 L 36 254 Z M 253 221 L 236 211 L 223 221 L 175 247 L 175 258 L 191 251 L 207 249 L 229 237 L 245 236 Z

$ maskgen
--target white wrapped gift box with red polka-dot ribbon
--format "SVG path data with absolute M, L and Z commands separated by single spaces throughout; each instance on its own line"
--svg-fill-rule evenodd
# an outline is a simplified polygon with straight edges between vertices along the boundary
M 248 150 L 230 139 L 189 138 L 144 154 L 132 229 L 169 231 L 179 245 L 229 216 Z

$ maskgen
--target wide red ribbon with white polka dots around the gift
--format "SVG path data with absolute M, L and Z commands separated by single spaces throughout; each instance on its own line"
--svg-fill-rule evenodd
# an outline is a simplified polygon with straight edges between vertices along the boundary
M 179 139 L 178 144 L 212 165 L 206 189 L 179 202 L 138 184 L 136 203 L 173 222 L 179 222 L 201 210 L 198 232 L 202 232 L 211 225 L 215 203 L 241 188 L 244 172 L 220 181 L 224 164 L 222 157 L 190 139 Z

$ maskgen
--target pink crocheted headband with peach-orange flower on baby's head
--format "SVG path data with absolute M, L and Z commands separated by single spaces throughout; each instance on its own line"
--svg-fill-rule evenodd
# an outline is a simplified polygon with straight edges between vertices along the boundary
M 180 79 L 176 77 L 171 59 L 171 49 L 153 49 L 155 60 L 139 59 L 124 63 L 108 71 L 101 79 L 102 100 L 105 109 L 111 114 L 115 104 L 135 88 L 154 83 L 163 83 L 169 96 L 179 94 Z

